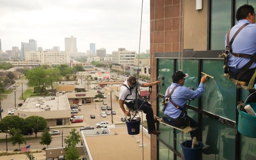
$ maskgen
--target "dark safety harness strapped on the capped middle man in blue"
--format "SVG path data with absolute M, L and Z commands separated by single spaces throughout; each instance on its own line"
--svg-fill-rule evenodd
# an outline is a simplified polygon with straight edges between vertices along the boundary
M 180 113 L 180 116 L 177 118 L 177 119 L 174 119 L 174 118 L 171 118 L 167 115 L 164 114 L 164 116 L 167 116 L 167 118 L 170 118 L 171 120 L 180 120 L 182 118 L 182 116 L 184 115 L 185 113 L 185 117 L 187 117 L 187 110 L 178 106 L 176 103 L 174 103 L 172 100 L 171 100 L 171 95 L 172 93 L 174 93 L 174 90 L 177 88 L 178 86 L 174 86 L 174 88 L 171 90 L 171 93 L 169 93 L 169 89 L 170 89 L 170 86 L 167 88 L 167 96 L 165 97 L 165 100 L 163 101 L 162 105 L 164 105 L 163 107 L 163 112 L 165 111 L 165 108 L 166 108 L 166 105 L 168 102 L 171 102 L 171 104 L 176 107 L 177 109 L 180 109 L 182 112 Z

